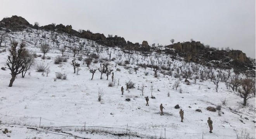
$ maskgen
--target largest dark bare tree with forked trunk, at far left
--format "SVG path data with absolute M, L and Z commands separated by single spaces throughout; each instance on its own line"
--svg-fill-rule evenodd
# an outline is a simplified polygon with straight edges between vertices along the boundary
M 18 74 L 20 74 L 25 68 L 25 59 L 22 56 L 25 50 L 25 43 L 22 42 L 20 44 L 19 49 L 17 50 L 18 42 L 14 41 L 11 44 L 10 48 L 10 56 L 8 56 L 6 65 L 8 66 L 7 69 L 11 71 L 12 78 L 9 83 L 9 87 L 12 87 L 12 84 Z

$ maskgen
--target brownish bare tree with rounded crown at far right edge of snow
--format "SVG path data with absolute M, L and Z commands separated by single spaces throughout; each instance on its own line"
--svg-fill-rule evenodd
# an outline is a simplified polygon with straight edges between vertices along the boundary
M 242 79 L 241 80 L 241 88 L 238 89 L 239 95 L 241 98 L 244 98 L 244 103 L 243 105 L 246 106 L 246 102 L 249 98 L 251 98 L 252 96 L 250 96 L 250 94 L 253 92 L 253 88 L 254 88 L 255 84 L 253 84 L 252 79 Z

